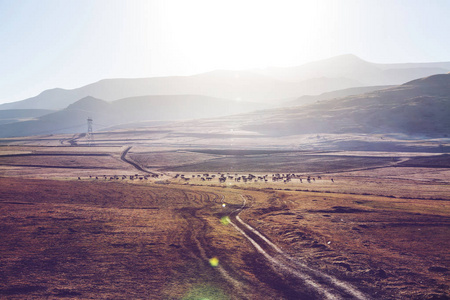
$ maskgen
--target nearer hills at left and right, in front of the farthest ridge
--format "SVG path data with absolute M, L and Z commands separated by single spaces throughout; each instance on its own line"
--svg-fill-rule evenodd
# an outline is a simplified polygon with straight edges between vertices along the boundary
M 133 128 L 139 122 L 148 121 L 209 118 L 200 123 L 187 121 L 186 127 L 207 124 L 208 130 L 214 131 L 223 124 L 233 124 L 235 130 L 272 137 L 319 133 L 448 137 L 448 116 L 450 73 L 358 95 L 276 109 L 261 109 L 259 103 L 195 95 L 131 97 L 112 102 L 85 97 L 66 109 L 35 120 L 0 125 L 0 137 L 85 132 L 88 117 L 94 119 L 95 130 L 111 126 Z

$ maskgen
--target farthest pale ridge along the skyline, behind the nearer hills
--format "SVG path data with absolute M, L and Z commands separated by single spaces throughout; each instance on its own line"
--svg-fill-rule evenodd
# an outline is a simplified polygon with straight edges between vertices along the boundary
M 291 68 L 247 71 L 217 70 L 192 76 L 104 79 L 76 89 L 55 88 L 17 102 L 6 109 L 64 109 L 84 97 L 105 101 L 148 95 L 203 95 L 232 101 L 270 103 L 319 95 L 352 87 L 398 85 L 450 72 L 450 62 L 375 64 L 354 55 L 341 55 Z

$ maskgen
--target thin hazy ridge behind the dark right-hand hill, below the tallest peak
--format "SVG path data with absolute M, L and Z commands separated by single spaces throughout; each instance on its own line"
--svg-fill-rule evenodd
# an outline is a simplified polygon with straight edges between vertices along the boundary
M 370 93 L 373 91 L 384 90 L 392 87 L 391 85 L 381 85 L 381 86 L 363 86 L 363 87 L 355 87 L 343 90 L 332 91 L 328 93 L 323 93 L 317 96 L 305 95 L 296 99 L 289 99 L 280 103 L 280 107 L 282 106 L 296 106 L 296 105 L 305 105 L 311 104 L 317 101 L 331 100 L 335 98 L 342 98 L 347 96 L 359 95 L 364 93 Z

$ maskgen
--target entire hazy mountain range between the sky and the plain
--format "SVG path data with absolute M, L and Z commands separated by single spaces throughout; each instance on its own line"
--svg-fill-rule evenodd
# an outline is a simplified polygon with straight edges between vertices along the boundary
M 227 115 L 237 115 L 233 122 L 242 130 L 268 136 L 445 136 L 450 134 L 450 73 L 414 76 L 449 70 L 450 63 L 381 65 L 345 55 L 296 68 L 106 79 L 1 105 L 0 137 L 85 132 L 88 117 L 99 130 L 202 118 L 219 118 L 220 124 Z M 360 84 L 356 79 L 391 84 L 407 77 L 414 80 L 349 87 Z

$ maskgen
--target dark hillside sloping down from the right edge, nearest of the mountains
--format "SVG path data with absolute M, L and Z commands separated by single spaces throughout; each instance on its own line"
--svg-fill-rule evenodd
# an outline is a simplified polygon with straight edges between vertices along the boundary
M 303 133 L 450 135 L 450 74 L 315 104 L 235 118 L 241 129 L 273 136 Z

